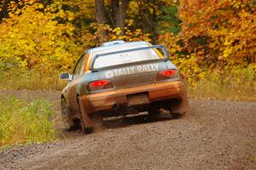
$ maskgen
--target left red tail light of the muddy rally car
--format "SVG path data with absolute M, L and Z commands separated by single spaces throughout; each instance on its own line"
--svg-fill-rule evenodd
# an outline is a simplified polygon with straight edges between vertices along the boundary
M 108 80 L 97 80 L 90 82 L 87 86 L 88 91 L 96 91 L 108 88 L 113 88 L 113 83 Z

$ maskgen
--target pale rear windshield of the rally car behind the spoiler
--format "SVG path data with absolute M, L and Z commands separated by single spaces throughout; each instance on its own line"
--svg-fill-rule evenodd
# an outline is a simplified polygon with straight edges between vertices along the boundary
M 135 63 L 144 60 L 162 59 L 163 52 L 161 48 L 147 48 L 147 49 L 132 49 L 133 51 L 119 51 L 115 54 L 100 54 L 96 58 L 93 69 L 100 69 L 103 67 L 113 65 L 123 65 L 127 63 Z

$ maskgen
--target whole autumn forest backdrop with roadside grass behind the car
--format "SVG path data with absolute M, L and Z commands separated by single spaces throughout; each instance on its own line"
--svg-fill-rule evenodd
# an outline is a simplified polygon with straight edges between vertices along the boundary
M 164 44 L 190 98 L 256 100 L 253 0 L 0 0 L 0 89 L 60 90 L 102 42 Z

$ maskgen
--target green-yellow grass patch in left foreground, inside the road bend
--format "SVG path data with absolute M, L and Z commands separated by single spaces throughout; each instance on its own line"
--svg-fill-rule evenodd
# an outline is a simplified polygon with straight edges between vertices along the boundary
M 53 114 L 49 101 L 21 101 L 15 97 L 0 98 L 0 149 L 15 144 L 44 143 L 55 140 Z

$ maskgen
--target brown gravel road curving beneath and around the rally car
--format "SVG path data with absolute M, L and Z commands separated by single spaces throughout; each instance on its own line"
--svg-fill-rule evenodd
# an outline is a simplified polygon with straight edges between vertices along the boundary
M 12 94 L 2 91 L 0 94 Z M 40 94 L 41 93 L 41 94 Z M 59 92 L 43 96 L 60 114 Z M 16 94 L 16 93 L 13 93 Z M 256 169 L 256 103 L 189 100 L 180 119 L 147 115 L 105 120 L 104 129 L 0 153 L 0 169 Z M 60 125 L 57 125 L 60 129 Z

